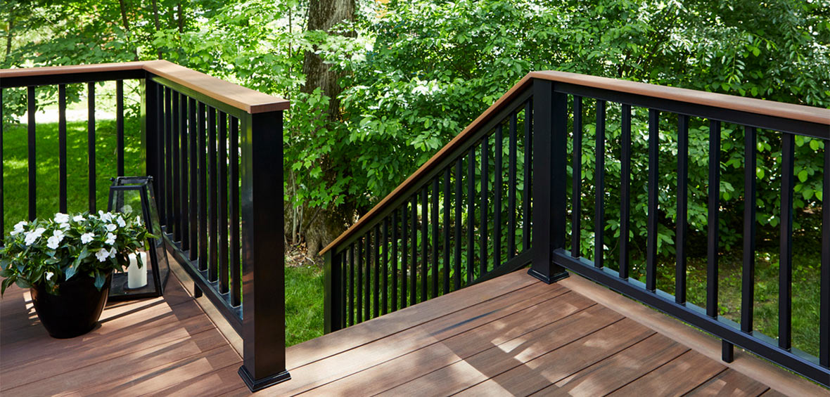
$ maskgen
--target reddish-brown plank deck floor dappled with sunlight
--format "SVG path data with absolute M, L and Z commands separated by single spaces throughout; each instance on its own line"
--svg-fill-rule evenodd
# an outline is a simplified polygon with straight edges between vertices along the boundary
M 51 339 L 28 293 L 0 306 L 0 394 L 249 395 L 241 358 L 175 278 Z M 828 395 L 818 385 L 578 276 L 508 274 L 291 346 L 258 395 Z

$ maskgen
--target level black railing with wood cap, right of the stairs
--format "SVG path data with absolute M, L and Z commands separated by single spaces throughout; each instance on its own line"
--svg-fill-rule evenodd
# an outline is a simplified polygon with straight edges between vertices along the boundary
M 759 99 L 746 99 L 730 95 L 704 93 L 692 90 L 681 90 L 657 85 L 645 85 L 623 80 L 603 79 L 593 76 L 574 75 L 561 72 L 535 72 L 531 74 L 536 79 L 547 80 L 549 85 L 544 88 L 549 92 L 550 119 L 552 128 L 549 131 L 535 128 L 535 144 L 539 145 L 541 135 L 551 134 L 553 143 L 551 163 L 554 177 L 551 184 L 554 191 L 564 191 L 563 177 L 567 174 L 565 147 L 576 148 L 572 151 L 572 191 L 570 209 L 572 219 L 566 219 L 565 195 L 559 193 L 555 200 L 549 201 L 554 213 L 550 218 L 552 229 L 555 230 L 551 238 L 550 247 L 553 249 L 553 262 L 569 269 L 585 278 L 601 283 L 608 288 L 623 293 L 649 306 L 666 312 L 683 322 L 710 332 L 723 341 L 723 359 L 732 361 L 734 346 L 740 346 L 747 351 L 773 361 L 789 370 L 798 372 L 823 385 L 830 385 L 830 195 L 823 195 L 823 235 L 820 302 L 814 304 L 820 312 L 820 346 L 816 349 L 819 356 L 813 356 L 800 351 L 792 344 L 792 288 L 793 288 L 793 190 L 794 175 L 793 163 L 795 138 L 808 137 L 818 139 L 824 143 L 823 149 L 823 191 L 830 191 L 830 110 L 811 108 L 793 104 L 781 104 Z M 534 100 L 540 101 L 540 94 L 535 94 Z M 593 109 L 586 109 L 587 104 L 593 104 Z M 620 235 L 623 236 L 616 247 L 617 253 L 603 247 L 603 233 L 606 232 L 608 217 L 604 214 L 607 206 L 609 188 L 604 185 L 608 166 L 604 162 L 613 154 L 606 155 L 606 110 L 609 106 L 619 106 L 620 119 L 614 120 L 620 130 L 622 151 L 619 153 L 621 178 L 618 194 L 620 200 L 620 214 L 613 214 L 611 219 L 619 219 Z M 640 178 L 647 178 L 647 202 L 632 203 L 631 176 L 632 176 L 632 109 L 640 108 L 647 112 L 647 171 Z M 593 112 L 589 112 L 593 110 Z M 581 169 L 581 149 L 583 145 L 583 118 L 593 114 L 596 122 L 593 123 L 593 153 L 596 160 L 593 164 L 593 255 L 589 260 L 584 258 L 585 246 L 583 241 L 583 226 L 580 220 L 580 202 L 585 196 L 581 191 L 583 186 L 583 170 Z M 616 109 L 615 109 L 616 114 Z M 676 120 L 676 128 L 666 129 L 666 123 L 660 119 Z M 743 268 L 742 291 L 740 307 L 740 323 L 730 321 L 720 315 L 718 298 L 718 259 L 719 248 L 719 212 L 720 209 L 720 173 L 723 167 L 720 159 L 722 140 L 722 126 L 738 126 L 735 133 L 743 133 L 744 164 L 745 166 L 745 209 L 743 230 Z M 689 244 L 687 234 L 687 217 L 689 191 L 692 183 L 689 180 L 690 159 L 690 126 L 702 126 L 700 131 L 706 131 L 708 137 L 703 145 L 705 156 L 708 157 L 708 211 L 706 235 L 708 246 L 708 261 L 706 272 L 706 307 L 697 307 L 686 300 L 686 249 Z M 754 282 L 755 282 L 755 240 L 758 222 L 756 221 L 756 153 L 759 130 L 769 137 L 780 138 L 782 156 L 780 160 L 780 208 L 781 219 L 779 244 L 779 330 L 777 338 L 755 331 L 754 317 Z M 615 131 L 616 133 L 616 131 Z M 661 143 L 661 134 L 674 134 L 676 144 Z M 701 145 L 696 146 L 700 151 Z M 707 150 L 708 149 L 708 150 Z M 658 170 L 659 153 L 661 151 L 676 151 L 677 178 L 674 181 L 661 181 L 663 172 Z M 615 157 L 615 156 L 614 156 Z M 617 160 L 617 158 L 614 158 Z M 534 166 L 539 163 L 534 163 Z M 533 172 L 540 173 L 539 169 Z M 557 183 L 557 179 L 559 182 Z M 535 179 L 535 182 L 538 180 Z M 700 182 L 698 182 L 700 183 Z M 541 191 L 540 186 L 533 186 L 535 194 Z M 661 208 L 658 206 L 658 195 L 661 191 L 676 191 L 676 208 Z M 534 197 L 534 213 L 536 221 L 544 211 L 538 206 L 539 201 Z M 641 204 L 634 206 L 632 204 Z M 632 278 L 632 241 L 627 237 L 632 227 L 632 213 L 645 205 L 647 215 L 647 238 L 645 251 L 645 282 Z M 675 293 L 666 293 L 657 288 L 658 273 L 658 226 L 659 217 L 667 212 L 676 211 L 676 262 L 674 273 L 676 283 Z M 661 215 L 661 213 L 663 215 Z M 570 249 L 567 249 L 564 238 L 566 224 L 572 230 Z M 535 244 L 535 249 L 539 246 Z M 603 257 L 617 258 L 613 269 L 608 266 Z M 806 265 L 806 264 L 802 264 Z M 816 264 L 810 264 L 816 265 Z M 666 266 L 665 264 L 661 266 Z

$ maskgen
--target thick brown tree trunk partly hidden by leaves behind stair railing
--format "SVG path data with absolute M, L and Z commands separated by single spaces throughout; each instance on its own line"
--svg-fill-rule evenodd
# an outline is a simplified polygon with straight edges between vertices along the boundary
M 308 31 L 331 32 L 332 28 L 341 22 L 354 22 L 354 0 L 311 0 L 309 3 Z M 330 70 L 329 65 L 315 54 L 315 51 L 305 51 L 303 60 L 305 86 L 302 91 L 310 93 L 320 87 L 326 96 L 330 97 L 327 117 L 331 121 L 340 116 L 340 102 L 337 99 L 343 89 L 337 82 L 338 75 Z M 321 162 L 330 159 L 322 158 Z M 324 167 L 324 169 L 330 167 Z M 333 175 L 324 176 L 325 182 L 333 182 Z M 310 210 L 310 211 L 306 211 Z M 290 212 L 289 212 L 290 213 Z M 305 242 L 310 256 L 316 255 L 320 249 L 334 240 L 345 228 L 354 222 L 354 206 L 347 201 L 337 207 L 318 209 L 304 208 L 304 215 L 309 219 L 301 220 L 300 230 L 305 231 Z M 291 223 L 287 223 L 291 225 Z

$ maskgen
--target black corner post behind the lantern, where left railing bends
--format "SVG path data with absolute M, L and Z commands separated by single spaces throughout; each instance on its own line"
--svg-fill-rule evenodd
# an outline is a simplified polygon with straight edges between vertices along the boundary
M 159 85 L 156 85 L 153 80 L 150 80 L 148 75 L 146 79 L 139 80 L 139 84 L 143 87 L 139 92 L 143 92 L 141 97 L 141 143 L 144 145 L 141 153 L 144 156 L 144 175 L 153 177 L 153 191 L 155 191 L 156 206 L 160 203 L 159 197 L 161 189 L 159 189 Z

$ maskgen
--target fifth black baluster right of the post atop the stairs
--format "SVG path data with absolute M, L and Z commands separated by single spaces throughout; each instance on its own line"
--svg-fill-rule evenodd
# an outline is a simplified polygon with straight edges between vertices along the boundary
M 675 302 L 686 303 L 686 231 L 688 230 L 689 116 L 677 116 L 677 234 Z

